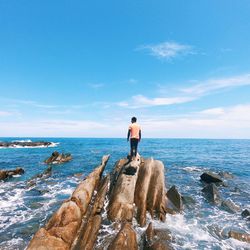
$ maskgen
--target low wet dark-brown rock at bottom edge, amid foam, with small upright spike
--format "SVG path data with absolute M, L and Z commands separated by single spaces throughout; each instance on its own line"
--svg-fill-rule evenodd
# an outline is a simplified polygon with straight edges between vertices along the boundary
M 172 236 L 167 229 L 154 229 L 152 222 L 149 223 L 144 235 L 143 249 L 145 250 L 170 250 Z

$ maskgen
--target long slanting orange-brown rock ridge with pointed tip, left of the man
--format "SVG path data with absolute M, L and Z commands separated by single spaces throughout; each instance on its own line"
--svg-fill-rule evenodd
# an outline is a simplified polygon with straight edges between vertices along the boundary
M 109 156 L 102 158 L 101 165 L 78 185 L 70 199 L 62 204 L 45 227 L 38 230 L 27 249 L 71 248 L 108 159 Z

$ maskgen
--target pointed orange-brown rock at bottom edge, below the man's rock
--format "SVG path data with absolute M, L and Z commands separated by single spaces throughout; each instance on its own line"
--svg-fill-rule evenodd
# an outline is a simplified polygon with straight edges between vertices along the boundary
M 137 250 L 138 244 L 136 240 L 136 233 L 131 224 L 126 222 L 115 239 L 111 242 L 108 250 Z

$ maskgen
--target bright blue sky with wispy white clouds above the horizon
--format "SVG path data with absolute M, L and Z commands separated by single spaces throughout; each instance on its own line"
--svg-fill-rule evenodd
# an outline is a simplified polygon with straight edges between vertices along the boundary
M 250 138 L 250 2 L 0 1 L 0 136 Z

